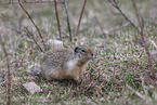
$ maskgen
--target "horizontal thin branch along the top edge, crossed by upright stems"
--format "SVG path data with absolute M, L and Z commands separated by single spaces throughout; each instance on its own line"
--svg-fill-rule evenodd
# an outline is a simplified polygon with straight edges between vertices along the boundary
M 54 2 L 54 0 L 50 0 L 50 1 L 23 1 L 22 3 L 34 4 L 34 3 L 53 3 L 53 2 Z M 64 3 L 64 2 L 56 1 L 56 3 Z M 18 2 L 9 2 L 8 4 L 18 4 Z

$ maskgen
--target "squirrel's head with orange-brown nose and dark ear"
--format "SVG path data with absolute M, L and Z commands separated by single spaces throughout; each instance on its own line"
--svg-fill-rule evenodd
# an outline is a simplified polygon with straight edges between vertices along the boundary
M 93 56 L 93 51 L 86 45 L 76 47 L 74 52 L 83 63 L 87 63 Z

